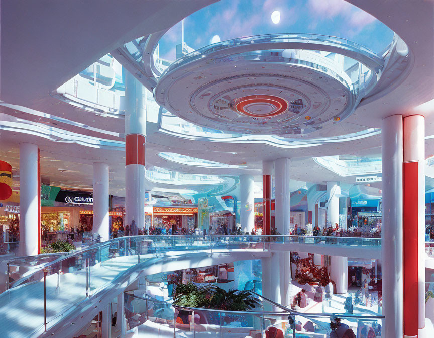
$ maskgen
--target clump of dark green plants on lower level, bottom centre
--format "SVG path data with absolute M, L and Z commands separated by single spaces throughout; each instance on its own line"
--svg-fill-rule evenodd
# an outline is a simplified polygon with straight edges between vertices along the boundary
M 225 291 L 215 285 L 199 287 L 193 283 L 179 284 L 173 299 L 178 306 L 227 311 L 246 311 L 259 304 L 249 291 Z

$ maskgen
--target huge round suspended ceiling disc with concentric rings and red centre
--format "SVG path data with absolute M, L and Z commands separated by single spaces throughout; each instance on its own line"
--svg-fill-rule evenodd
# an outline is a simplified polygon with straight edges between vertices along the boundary
M 381 60 L 363 49 L 357 54 L 355 46 L 343 48 L 328 41 L 323 45 L 327 51 L 278 49 L 290 42 L 256 36 L 249 45 L 248 39 L 239 39 L 239 45 L 238 40 L 222 42 L 221 47 L 215 44 L 206 50 L 209 54 L 195 51 L 175 61 L 158 80 L 157 103 L 203 127 L 303 135 L 349 116 L 365 95 L 367 83 L 378 78 Z M 255 49 L 259 46 L 264 49 Z M 339 48 L 346 50 L 335 57 Z M 347 72 L 348 64 L 354 64 L 354 70 Z

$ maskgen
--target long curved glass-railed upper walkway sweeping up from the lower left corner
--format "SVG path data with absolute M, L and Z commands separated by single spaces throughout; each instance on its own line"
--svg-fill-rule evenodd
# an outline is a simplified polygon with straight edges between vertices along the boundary
M 42 258 L 9 262 L 9 289 L 0 294 L 3 336 L 40 336 L 77 309 L 91 307 L 95 297 L 153 265 L 208 257 L 210 253 L 266 252 L 274 243 L 380 245 L 375 238 L 309 236 L 130 236 L 98 243 L 87 249 Z M 202 255 L 202 256 L 200 256 Z M 47 258 L 48 256 L 49 258 Z M 54 260 L 52 260 L 54 258 Z M 227 259 L 227 258 L 226 258 Z M 245 258 L 246 259 L 246 258 Z M 48 260 L 48 261 L 47 261 Z M 14 275 L 12 268 L 15 268 Z M 89 299 L 90 298 L 90 299 Z M 21 314 L 31 314 L 31 320 Z

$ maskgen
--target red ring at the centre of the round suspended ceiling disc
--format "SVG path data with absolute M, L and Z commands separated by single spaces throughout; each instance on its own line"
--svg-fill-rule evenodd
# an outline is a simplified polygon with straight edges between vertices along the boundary
M 270 117 L 288 109 L 288 102 L 274 95 L 249 95 L 235 100 L 237 112 L 252 117 Z

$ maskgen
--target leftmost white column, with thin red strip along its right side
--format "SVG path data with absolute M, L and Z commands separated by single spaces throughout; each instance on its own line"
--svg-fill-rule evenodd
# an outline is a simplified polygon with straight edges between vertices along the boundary
M 38 253 L 38 146 L 20 144 L 20 255 Z

